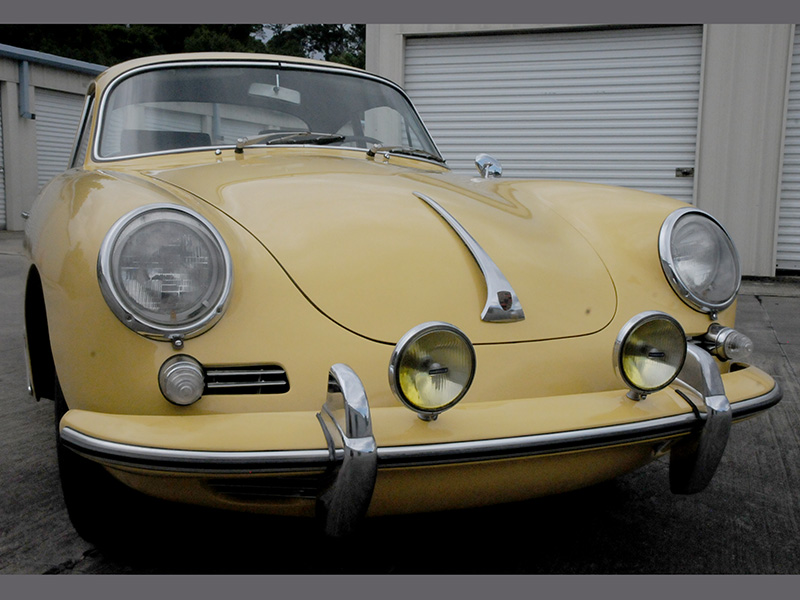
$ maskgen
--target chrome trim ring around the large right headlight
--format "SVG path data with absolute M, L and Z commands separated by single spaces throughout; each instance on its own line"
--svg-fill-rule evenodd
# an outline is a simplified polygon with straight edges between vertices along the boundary
M 726 258 L 731 260 L 733 268 L 735 269 L 733 277 L 735 284 L 730 289 L 729 293 L 725 294 L 722 300 L 713 301 L 708 298 L 703 298 L 700 291 L 698 289 L 693 289 L 686 280 L 685 275 L 680 272 L 673 252 L 673 235 L 679 221 L 684 218 L 706 219 L 719 229 L 719 233 L 721 234 L 719 239 L 722 240 L 724 246 L 720 248 L 720 251 L 727 251 L 730 253 Z M 680 299 L 688 306 L 698 312 L 708 313 L 714 318 L 719 311 L 733 304 L 739 293 L 742 281 L 739 254 L 728 232 L 722 224 L 710 214 L 694 207 L 680 208 L 674 211 L 666 218 L 661 226 L 658 237 L 658 252 L 661 259 L 661 268 L 664 270 L 667 281 Z

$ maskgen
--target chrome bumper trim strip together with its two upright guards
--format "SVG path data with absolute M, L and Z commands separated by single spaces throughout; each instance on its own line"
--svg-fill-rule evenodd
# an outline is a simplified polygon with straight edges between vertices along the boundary
M 315 499 L 326 533 L 342 536 L 366 514 L 378 468 L 532 457 L 680 436 L 671 447 L 670 485 L 675 493 L 695 493 L 708 485 L 716 471 L 731 422 L 766 410 L 782 397 L 776 383 L 766 394 L 731 405 L 713 358 L 692 345 L 673 388 L 692 406 L 692 412 L 558 433 L 378 447 L 361 380 L 350 367 L 336 364 L 330 370 L 326 401 L 317 414 L 326 449 L 219 452 L 154 448 L 101 440 L 69 426 L 62 428 L 61 440 L 87 458 L 119 467 L 202 476 L 308 473 L 312 484 L 298 495 Z

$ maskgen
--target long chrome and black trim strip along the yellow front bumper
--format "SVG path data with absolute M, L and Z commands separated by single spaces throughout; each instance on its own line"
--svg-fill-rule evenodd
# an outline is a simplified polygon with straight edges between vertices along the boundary
M 782 396 L 783 392 L 776 383 L 772 390 L 762 396 L 731 404 L 733 420 L 741 420 L 767 410 L 777 404 Z M 644 443 L 690 433 L 703 418 L 694 412 L 688 412 L 637 423 L 513 438 L 416 446 L 379 446 L 378 466 L 390 468 L 470 463 Z M 99 462 L 149 470 L 202 474 L 272 473 L 320 471 L 331 463 L 327 447 L 262 452 L 176 450 L 101 440 L 69 426 L 62 429 L 61 439 L 67 447 Z M 323 441 L 321 439 L 320 443 Z M 343 451 L 337 449 L 336 452 L 335 460 L 341 460 L 340 453 Z

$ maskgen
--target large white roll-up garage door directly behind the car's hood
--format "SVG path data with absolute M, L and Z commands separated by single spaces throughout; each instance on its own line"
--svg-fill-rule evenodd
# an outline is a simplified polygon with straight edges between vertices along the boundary
M 691 202 L 701 53 L 700 26 L 410 38 L 405 88 L 453 170 Z

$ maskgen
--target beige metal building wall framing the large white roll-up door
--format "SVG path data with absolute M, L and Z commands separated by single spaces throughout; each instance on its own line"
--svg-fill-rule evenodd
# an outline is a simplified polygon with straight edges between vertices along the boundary
M 541 24 L 368 25 L 367 69 L 404 85 L 406 46 L 415 39 L 598 29 Z M 694 203 L 720 218 L 731 232 L 745 275 L 775 274 L 794 29 L 790 24 L 702 26 Z M 492 56 L 483 58 L 491 60 Z

